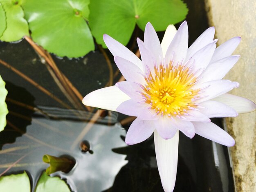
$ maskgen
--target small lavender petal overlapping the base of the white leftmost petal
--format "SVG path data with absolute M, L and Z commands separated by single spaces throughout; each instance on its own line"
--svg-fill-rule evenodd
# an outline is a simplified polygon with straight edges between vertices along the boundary
M 142 100 L 142 96 L 139 93 L 142 91 L 142 88 L 137 83 L 132 83 L 129 81 L 121 81 L 116 83 L 116 86 L 133 100 L 137 102 Z

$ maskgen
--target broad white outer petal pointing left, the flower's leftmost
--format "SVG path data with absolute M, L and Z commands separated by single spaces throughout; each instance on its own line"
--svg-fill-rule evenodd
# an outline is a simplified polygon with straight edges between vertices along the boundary
M 130 97 L 128 95 L 114 85 L 89 93 L 83 98 L 83 104 L 101 109 L 117 111 L 117 107 L 129 99 Z

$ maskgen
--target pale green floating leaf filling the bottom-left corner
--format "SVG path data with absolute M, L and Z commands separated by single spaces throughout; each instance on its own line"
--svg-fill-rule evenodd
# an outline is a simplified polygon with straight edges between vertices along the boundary
M 29 176 L 26 172 L 0 177 L 1 192 L 30 192 Z

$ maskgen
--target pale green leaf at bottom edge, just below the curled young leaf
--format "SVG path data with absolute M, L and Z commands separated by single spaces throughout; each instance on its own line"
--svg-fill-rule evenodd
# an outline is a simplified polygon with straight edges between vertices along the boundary
M 45 172 L 40 176 L 38 183 L 36 185 L 35 192 L 70 192 L 65 181 L 61 180 L 59 177 L 48 176 Z

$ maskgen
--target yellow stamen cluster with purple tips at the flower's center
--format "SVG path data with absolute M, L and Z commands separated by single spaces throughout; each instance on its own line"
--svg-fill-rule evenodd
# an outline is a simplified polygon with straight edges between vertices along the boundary
M 170 62 L 168 66 L 155 66 L 154 70 L 154 74 L 148 71 L 141 94 L 156 114 L 180 117 L 197 107 L 194 101 L 200 89 L 192 89 L 196 77 L 189 67 Z

